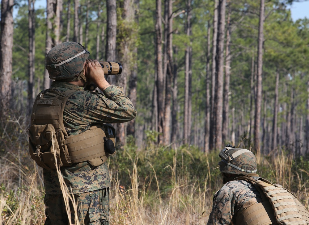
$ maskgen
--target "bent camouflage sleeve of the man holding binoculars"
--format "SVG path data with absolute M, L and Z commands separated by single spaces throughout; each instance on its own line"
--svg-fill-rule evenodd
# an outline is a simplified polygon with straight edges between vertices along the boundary
M 85 100 L 84 118 L 95 122 L 123 123 L 134 119 L 137 112 L 125 96 L 122 87 L 110 86 L 99 92 L 89 92 Z

